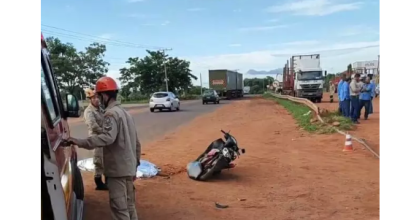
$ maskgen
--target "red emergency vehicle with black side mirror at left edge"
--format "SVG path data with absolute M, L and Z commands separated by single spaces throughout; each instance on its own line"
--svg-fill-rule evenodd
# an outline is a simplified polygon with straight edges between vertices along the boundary
M 41 36 L 41 219 L 81 220 L 83 180 L 75 146 L 68 146 L 69 117 L 80 117 L 78 99 L 61 95 Z

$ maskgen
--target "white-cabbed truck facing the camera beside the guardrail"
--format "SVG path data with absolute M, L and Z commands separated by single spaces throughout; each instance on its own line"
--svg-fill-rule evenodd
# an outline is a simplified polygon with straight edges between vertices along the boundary
M 320 55 L 296 55 L 283 69 L 284 94 L 321 102 L 326 71 L 321 69 Z

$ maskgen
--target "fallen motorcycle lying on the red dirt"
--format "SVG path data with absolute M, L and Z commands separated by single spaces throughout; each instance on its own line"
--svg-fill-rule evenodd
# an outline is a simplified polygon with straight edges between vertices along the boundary
M 193 180 L 205 181 L 213 175 L 221 173 L 224 169 L 234 168 L 232 163 L 239 155 L 246 152 L 240 149 L 236 139 L 221 130 L 225 141 L 219 138 L 213 141 L 208 148 L 195 161 L 190 162 L 187 167 L 187 174 Z

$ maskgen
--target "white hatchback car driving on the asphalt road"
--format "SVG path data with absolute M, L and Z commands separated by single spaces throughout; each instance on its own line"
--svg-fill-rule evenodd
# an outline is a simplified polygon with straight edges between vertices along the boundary
M 149 108 L 151 112 L 155 109 L 160 111 L 166 109 L 168 111 L 180 110 L 180 101 L 172 92 L 156 92 L 150 98 Z

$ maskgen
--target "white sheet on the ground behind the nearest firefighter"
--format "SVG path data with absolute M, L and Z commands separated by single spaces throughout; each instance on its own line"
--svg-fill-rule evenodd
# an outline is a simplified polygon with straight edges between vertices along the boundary
M 94 172 L 93 158 L 87 158 L 78 161 L 78 167 L 84 171 Z M 140 160 L 140 165 L 136 171 L 136 177 L 150 178 L 156 176 L 159 171 L 159 168 L 155 164 L 150 163 L 147 160 Z

